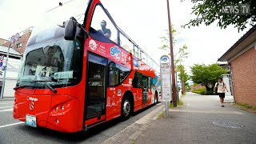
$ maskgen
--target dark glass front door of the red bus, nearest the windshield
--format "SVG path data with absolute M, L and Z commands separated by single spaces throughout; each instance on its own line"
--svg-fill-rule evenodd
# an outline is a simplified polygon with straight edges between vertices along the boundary
M 105 120 L 107 59 L 88 55 L 86 86 L 86 126 Z

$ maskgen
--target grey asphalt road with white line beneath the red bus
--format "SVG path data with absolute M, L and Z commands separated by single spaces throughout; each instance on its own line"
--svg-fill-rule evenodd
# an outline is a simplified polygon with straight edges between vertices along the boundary
M 0 143 L 101 143 L 130 124 L 158 108 L 150 106 L 125 122 L 119 118 L 78 134 L 63 134 L 54 130 L 26 126 L 12 118 L 12 101 L 0 101 Z M 14 124 L 10 126 L 10 124 Z

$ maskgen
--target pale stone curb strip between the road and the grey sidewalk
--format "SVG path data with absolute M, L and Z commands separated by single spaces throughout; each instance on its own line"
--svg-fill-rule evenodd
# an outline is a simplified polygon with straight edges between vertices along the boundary
M 106 141 L 102 142 L 102 144 L 130 144 L 131 141 L 135 141 L 150 126 L 150 122 L 155 121 L 158 118 L 158 115 L 162 113 L 162 110 L 165 109 L 165 105 L 162 105 L 162 103 L 159 104 L 161 104 L 161 106 L 150 112 L 150 114 L 146 114 L 144 117 L 130 124 L 130 126 L 127 126 L 125 129 L 119 131 L 117 134 L 114 134 L 114 136 L 106 139 Z

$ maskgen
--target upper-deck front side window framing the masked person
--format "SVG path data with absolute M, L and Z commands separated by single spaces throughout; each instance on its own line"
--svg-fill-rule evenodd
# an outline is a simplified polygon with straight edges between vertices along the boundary
M 110 21 L 110 18 L 102 9 L 102 6 L 95 7 L 94 15 L 93 15 L 90 27 L 92 27 L 94 30 L 97 30 L 99 34 L 102 34 L 106 38 L 110 38 L 111 41 L 117 43 L 118 30 Z

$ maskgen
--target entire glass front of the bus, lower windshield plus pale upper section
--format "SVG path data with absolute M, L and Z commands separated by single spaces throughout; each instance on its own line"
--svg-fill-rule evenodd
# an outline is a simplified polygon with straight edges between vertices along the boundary
M 83 23 L 88 0 L 70 0 L 38 17 L 23 54 L 17 86 L 73 86 L 82 77 L 82 44 L 64 39 L 64 22 Z

